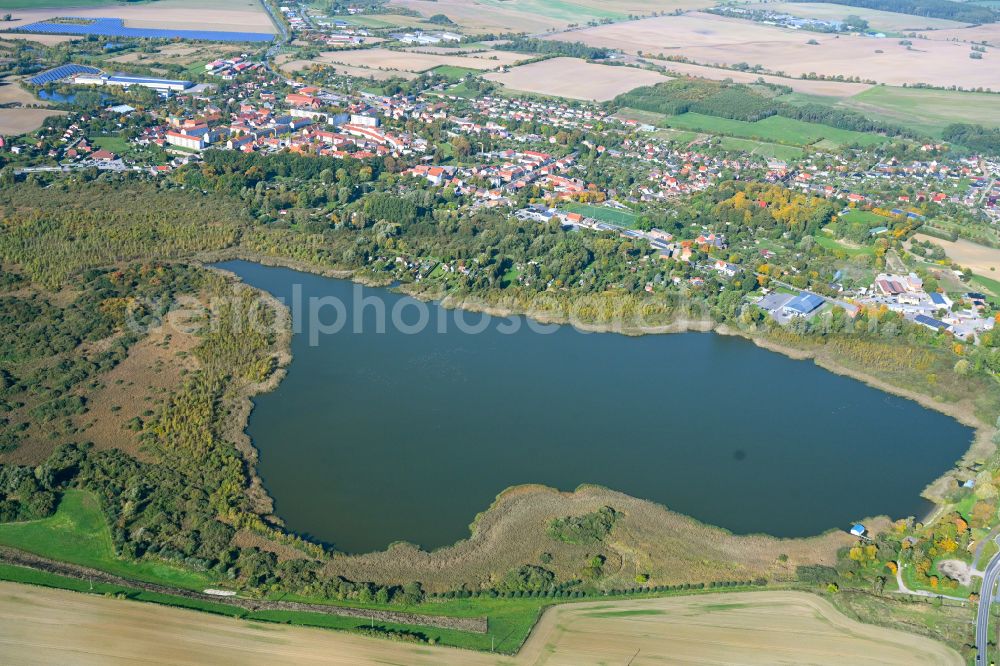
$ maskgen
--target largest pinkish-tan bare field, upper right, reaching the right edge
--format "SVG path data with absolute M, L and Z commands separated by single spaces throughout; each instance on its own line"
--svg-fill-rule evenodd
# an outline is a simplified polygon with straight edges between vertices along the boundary
M 1000 67 L 989 55 L 972 60 L 969 46 L 955 42 L 920 40 L 907 48 L 898 38 L 803 33 L 699 12 L 586 28 L 572 36 L 591 46 L 678 55 L 703 64 L 748 63 L 795 77 L 816 73 L 891 85 L 1000 90 Z

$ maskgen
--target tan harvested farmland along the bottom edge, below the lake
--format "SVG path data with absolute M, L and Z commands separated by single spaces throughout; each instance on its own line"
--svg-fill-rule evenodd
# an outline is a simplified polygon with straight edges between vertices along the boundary
M 22 664 L 962 663 L 940 643 L 863 625 L 801 592 L 562 605 L 511 658 L 16 583 L 0 583 L 0 652 Z

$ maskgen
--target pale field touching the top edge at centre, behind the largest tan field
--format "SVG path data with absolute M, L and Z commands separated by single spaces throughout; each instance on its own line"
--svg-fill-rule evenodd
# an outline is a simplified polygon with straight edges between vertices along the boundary
M 711 7 L 711 0 L 391 0 L 425 18 L 444 14 L 467 32 L 544 32 L 602 19 Z M 381 17 L 380 17 L 381 18 Z

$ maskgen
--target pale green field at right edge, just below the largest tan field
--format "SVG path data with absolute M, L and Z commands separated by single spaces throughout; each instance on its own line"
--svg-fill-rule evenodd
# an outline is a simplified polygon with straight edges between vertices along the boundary
M 836 99 L 792 93 L 779 98 L 789 104 L 822 104 L 857 111 L 874 120 L 901 125 L 932 137 L 951 123 L 1000 127 L 1000 95 L 926 88 L 874 86 L 853 97 Z

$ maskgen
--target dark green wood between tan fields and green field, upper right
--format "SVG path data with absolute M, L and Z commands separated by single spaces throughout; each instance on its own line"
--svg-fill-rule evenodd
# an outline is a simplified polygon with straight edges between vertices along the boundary
M 774 91 L 771 91 L 774 92 Z M 666 115 L 695 112 L 720 118 L 756 122 L 770 116 L 822 123 L 856 132 L 909 136 L 903 128 L 871 120 L 860 113 L 819 104 L 792 106 L 741 83 L 674 79 L 643 86 L 615 98 L 617 107 L 630 107 Z

